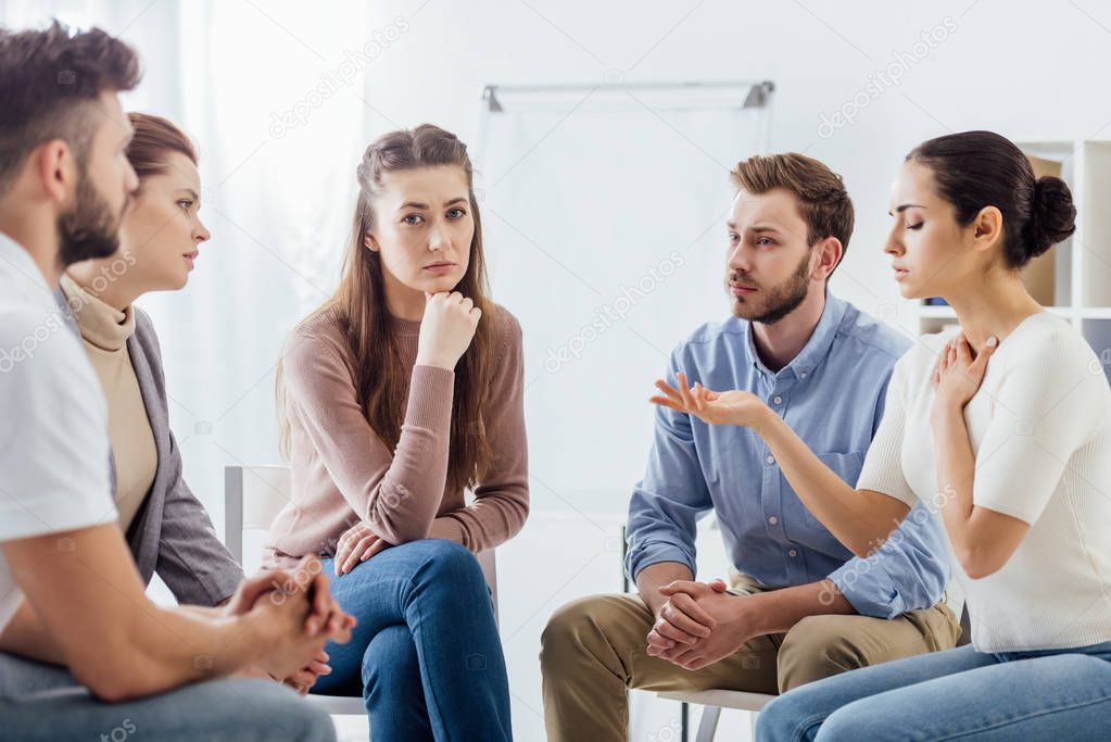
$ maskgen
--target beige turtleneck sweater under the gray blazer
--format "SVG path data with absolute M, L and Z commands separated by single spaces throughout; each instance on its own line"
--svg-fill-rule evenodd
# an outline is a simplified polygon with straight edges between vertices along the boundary
M 128 338 L 136 329 L 134 313 L 130 307 L 122 312 L 109 307 L 69 275 L 62 274 L 61 288 L 108 399 L 108 434 L 116 463 L 116 509 L 120 512 L 120 529 L 126 533 L 158 471 L 154 433 L 128 353 Z

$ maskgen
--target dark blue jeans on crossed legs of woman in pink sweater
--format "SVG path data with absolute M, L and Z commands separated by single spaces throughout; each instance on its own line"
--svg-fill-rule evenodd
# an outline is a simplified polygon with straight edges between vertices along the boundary
M 350 642 L 324 648 L 332 674 L 312 693 L 362 695 L 374 742 L 512 739 L 506 660 L 474 554 L 426 539 L 340 576 L 322 561 L 359 624 Z

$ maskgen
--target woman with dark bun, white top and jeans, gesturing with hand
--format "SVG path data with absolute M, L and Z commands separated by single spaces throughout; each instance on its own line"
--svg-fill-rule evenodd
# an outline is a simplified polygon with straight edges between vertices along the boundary
M 1035 180 L 1007 139 L 964 132 L 907 157 L 891 215 L 902 295 L 944 297 L 961 330 L 899 361 L 855 490 L 759 398 L 663 391 L 757 431 L 857 554 L 924 501 L 949 535 L 972 644 L 791 691 L 763 711 L 759 739 L 1109 739 L 1111 389 L 1083 337 L 1019 278 L 1073 232 L 1072 197 L 1060 179 Z

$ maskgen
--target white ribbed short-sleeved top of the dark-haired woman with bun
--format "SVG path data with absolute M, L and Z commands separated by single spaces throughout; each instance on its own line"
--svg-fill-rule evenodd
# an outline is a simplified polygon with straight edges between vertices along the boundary
M 931 374 L 948 335 L 928 335 L 895 365 L 883 421 L 858 489 L 934 517 Z M 971 580 L 953 558 L 982 652 L 1111 641 L 1111 389 L 1068 322 L 1041 312 L 997 349 L 964 409 L 975 454 L 973 503 L 1030 523 L 1007 564 Z M 952 550 L 950 549 L 950 552 Z

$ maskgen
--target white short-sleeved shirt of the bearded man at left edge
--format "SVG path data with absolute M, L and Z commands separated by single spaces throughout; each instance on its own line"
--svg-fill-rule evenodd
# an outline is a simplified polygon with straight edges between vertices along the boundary
M 0 232 L 0 542 L 114 522 L 108 457 L 84 349 L 31 254 Z M 0 629 L 22 599 L 0 551 Z

